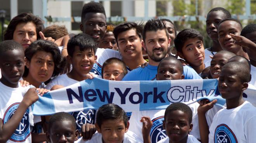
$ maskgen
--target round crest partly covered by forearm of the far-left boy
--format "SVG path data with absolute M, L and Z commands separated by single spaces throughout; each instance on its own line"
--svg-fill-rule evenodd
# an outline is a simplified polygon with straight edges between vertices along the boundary
M 12 115 L 15 113 L 15 111 L 19 107 L 19 104 L 20 103 L 14 103 L 5 111 L 5 114 L 3 115 L 3 124 L 7 123 L 7 121 L 9 121 L 9 119 L 12 118 Z M 29 137 L 30 126 L 29 126 L 28 112 L 29 110 L 27 109 L 18 127 L 10 137 L 11 141 L 23 142 Z

